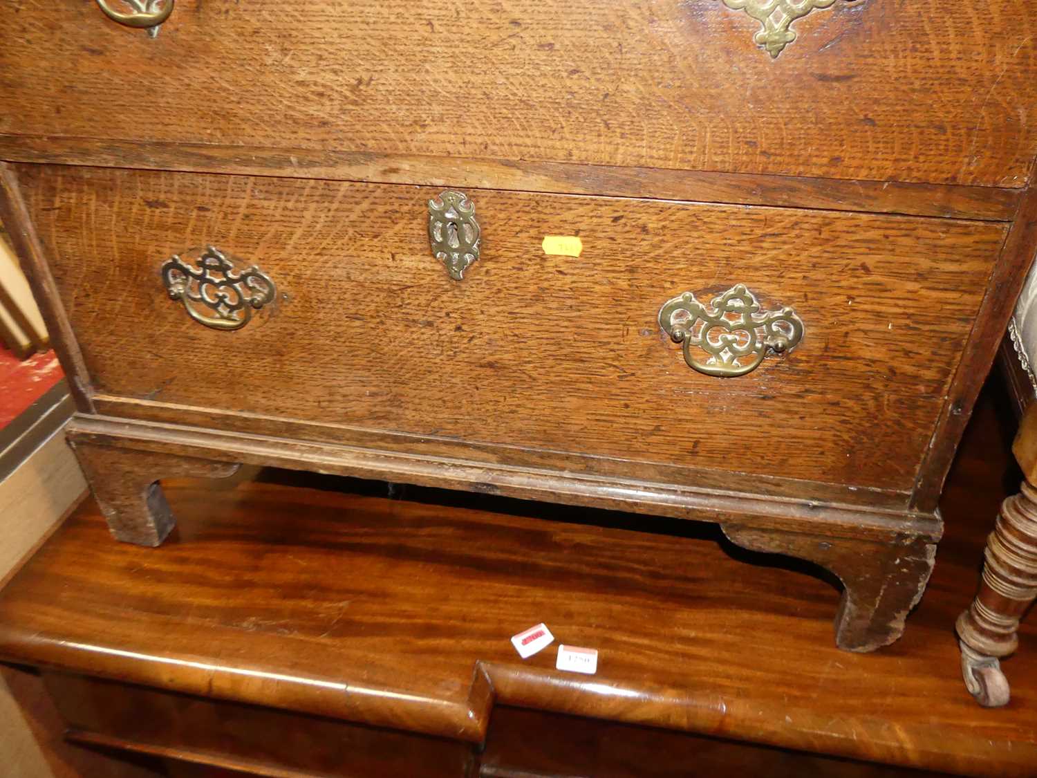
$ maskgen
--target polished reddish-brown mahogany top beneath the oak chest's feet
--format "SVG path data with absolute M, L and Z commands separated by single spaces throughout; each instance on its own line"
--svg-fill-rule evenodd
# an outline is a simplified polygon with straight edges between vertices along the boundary
M 1009 660 L 1012 702 L 983 711 L 952 632 L 1007 493 L 1001 434 L 981 406 L 929 590 L 874 655 L 832 645 L 829 584 L 704 525 L 276 471 L 170 484 L 160 549 L 111 543 L 85 503 L 0 593 L 0 655 L 475 743 L 506 704 L 1029 776 L 1037 665 Z M 553 647 L 520 660 L 508 638 L 539 621 L 597 648 L 597 674 L 556 671 Z

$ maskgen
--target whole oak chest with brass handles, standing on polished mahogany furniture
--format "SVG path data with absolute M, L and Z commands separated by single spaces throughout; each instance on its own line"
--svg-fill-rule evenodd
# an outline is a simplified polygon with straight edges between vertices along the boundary
M 115 537 L 243 463 L 711 521 L 870 650 L 1037 246 L 1035 108 L 1016 0 L 15 0 L 0 214 Z

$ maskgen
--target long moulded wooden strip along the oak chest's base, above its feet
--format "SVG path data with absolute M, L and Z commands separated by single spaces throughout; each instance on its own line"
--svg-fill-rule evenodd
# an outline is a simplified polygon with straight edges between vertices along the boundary
M 259 435 L 220 433 L 156 422 L 77 414 L 68 427 L 73 445 L 93 445 L 169 453 L 176 456 L 263 465 L 360 478 L 397 480 L 424 487 L 540 499 L 612 509 L 650 505 L 652 515 L 705 522 L 737 520 L 740 526 L 777 519 L 789 531 L 821 529 L 826 535 L 884 538 L 912 532 L 935 543 L 943 534 L 940 513 L 869 510 L 737 493 L 714 493 L 667 483 L 560 471 L 473 463 L 441 456 L 308 443 Z

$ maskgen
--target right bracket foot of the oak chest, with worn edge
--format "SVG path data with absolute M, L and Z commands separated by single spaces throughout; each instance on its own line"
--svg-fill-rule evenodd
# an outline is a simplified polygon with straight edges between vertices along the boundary
M 903 634 L 936 553 L 930 536 L 906 532 L 874 539 L 733 524 L 723 529 L 738 546 L 807 559 L 838 576 L 844 589 L 836 645 L 848 651 L 873 651 Z

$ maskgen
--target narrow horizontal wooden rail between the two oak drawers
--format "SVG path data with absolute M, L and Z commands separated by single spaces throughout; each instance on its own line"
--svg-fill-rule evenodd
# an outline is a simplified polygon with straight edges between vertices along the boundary
M 209 143 L 0 133 L 0 160 L 454 189 L 646 197 L 1010 221 L 1022 190 Z

